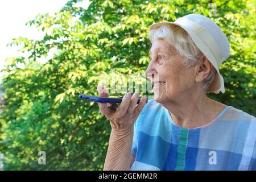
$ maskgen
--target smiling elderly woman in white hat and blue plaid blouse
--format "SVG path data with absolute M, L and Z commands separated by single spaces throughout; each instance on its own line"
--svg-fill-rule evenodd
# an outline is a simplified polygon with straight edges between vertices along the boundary
M 255 170 L 255 117 L 205 94 L 225 92 L 225 34 L 189 14 L 153 24 L 149 36 L 154 100 L 137 105 L 138 93 L 126 93 L 118 107 L 99 104 L 112 126 L 104 170 Z

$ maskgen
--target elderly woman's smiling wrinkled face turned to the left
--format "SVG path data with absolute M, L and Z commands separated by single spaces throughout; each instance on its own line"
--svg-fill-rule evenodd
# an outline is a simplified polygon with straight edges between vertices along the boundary
M 152 43 L 150 57 L 151 61 L 145 73 L 153 84 L 156 102 L 164 104 L 175 101 L 183 94 L 192 93 L 196 69 L 194 66 L 185 67 L 183 56 L 176 53 L 171 44 L 163 39 L 155 40 Z M 153 74 L 158 75 L 158 79 Z

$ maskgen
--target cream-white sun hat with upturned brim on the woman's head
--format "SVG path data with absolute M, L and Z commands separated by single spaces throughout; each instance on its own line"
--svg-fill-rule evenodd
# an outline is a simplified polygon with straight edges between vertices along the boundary
M 218 70 L 220 64 L 229 57 L 229 40 L 221 31 L 220 27 L 209 18 L 200 14 L 189 14 L 177 18 L 175 22 L 159 22 L 150 26 L 150 31 L 164 24 L 175 24 L 180 26 L 191 36 L 193 42 L 200 51 L 212 63 L 217 71 L 217 76 L 210 85 L 208 92 L 225 92 L 224 79 Z

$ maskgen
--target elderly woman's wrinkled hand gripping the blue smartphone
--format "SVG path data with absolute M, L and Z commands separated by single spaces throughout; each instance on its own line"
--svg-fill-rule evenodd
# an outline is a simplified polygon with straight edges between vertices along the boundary
M 98 85 L 99 97 L 109 97 L 108 91 L 102 85 Z M 115 131 L 130 131 L 133 129 L 133 124 L 141 113 L 147 102 L 147 97 L 143 96 L 137 105 L 139 94 L 126 93 L 121 104 L 98 103 L 100 112 L 109 119 L 112 130 Z

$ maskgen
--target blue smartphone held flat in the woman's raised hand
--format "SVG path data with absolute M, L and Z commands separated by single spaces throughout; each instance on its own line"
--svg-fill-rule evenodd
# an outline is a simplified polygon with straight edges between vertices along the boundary
M 101 103 L 121 103 L 122 102 L 122 98 L 95 97 L 95 96 L 86 96 L 83 94 L 79 94 L 79 98 L 81 100 L 88 100 L 88 101 L 101 102 Z M 139 101 L 141 101 L 141 99 L 138 100 L 137 104 L 139 104 Z

